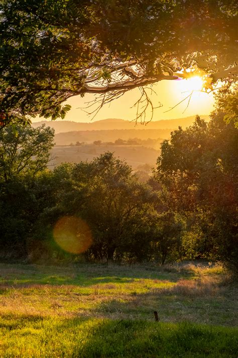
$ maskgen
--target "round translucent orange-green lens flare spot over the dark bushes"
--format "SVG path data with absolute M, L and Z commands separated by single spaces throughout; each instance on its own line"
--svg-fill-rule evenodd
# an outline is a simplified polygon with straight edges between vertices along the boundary
M 86 251 L 92 244 L 88 225 L 80 218 L 63 217 L 54 226 L 53 236 L 56 243 L 73 254 Z

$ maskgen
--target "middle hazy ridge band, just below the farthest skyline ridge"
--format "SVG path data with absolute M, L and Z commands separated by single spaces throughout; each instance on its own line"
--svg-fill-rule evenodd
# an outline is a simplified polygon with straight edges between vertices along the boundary
M 140 126 L 141 128 L 141 126 Z M 140 139 L 167 139 L 170 136 L 171 129 L 111 129 L 111 130 L 77 130 L 71 132 L 62 132 L 55 134 L 56 145 L 75 144 L 76 141 L 92 143 L 94 140 L 102 142 L 112 141 L 121 138 L 128 140 L 130 138 Z

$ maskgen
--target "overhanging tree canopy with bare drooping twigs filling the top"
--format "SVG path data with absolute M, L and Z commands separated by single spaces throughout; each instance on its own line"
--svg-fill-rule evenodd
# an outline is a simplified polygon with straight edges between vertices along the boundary
M 148 85 L 200 74 L 209 91 L 236 80 L 230 0 L 3 0 L 0 16 L 2 126 L 64 118 L 63 102 L 86 93 L 100 96 L 97 112 L 134 88 L 144 120 Z

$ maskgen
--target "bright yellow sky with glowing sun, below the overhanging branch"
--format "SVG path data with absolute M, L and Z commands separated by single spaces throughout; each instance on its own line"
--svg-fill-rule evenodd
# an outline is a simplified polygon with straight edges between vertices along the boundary
M 163 107 L 155 110 L 153 120 L 181 118 L 196 114 L 209 114 L 213 110 L 213 95 L 201 92 L 193 92 L 187 109 L 186 106 L 188 100 L 184 101 L 173 110 L 164 113 L 179 103 L 183 98 L 187 97 L 189 93 L 191 93 L 192 87 L 193 84 L 191 84 L 188 80 L 161 81 L 154 85 L 153 90 L 157 94 L 152 95 L 154 106 L 158 106 L 158 103 L 161 102 Z M 139 89 L 130 91 L 120 99 L 112 101 L 110 105 L 105 105 L 93 120 L 95 121 L 105 118 L 122 118 L 132 120 L 136 116 L 136 109 L 130 107 L 133 106 L 139 97 Z M 92 119 L 92 116 L 88 116 L 87 113 L 77 107 L 86 107 L 86 102 L 91 101 L 94 98 L 94 95 L 89 94 L 85 95 L 84 98 L 81 98 L 80 96 L 70 98 L 67 103 L 69 103 L 72 108 L 66 115 L 65 119 L 76 122 L 89 122 Z M 148 112 L 148 119 L 149 117 L 150 113 Z M 36 118 L 34 121 L 38 120 L 39 118 Z

